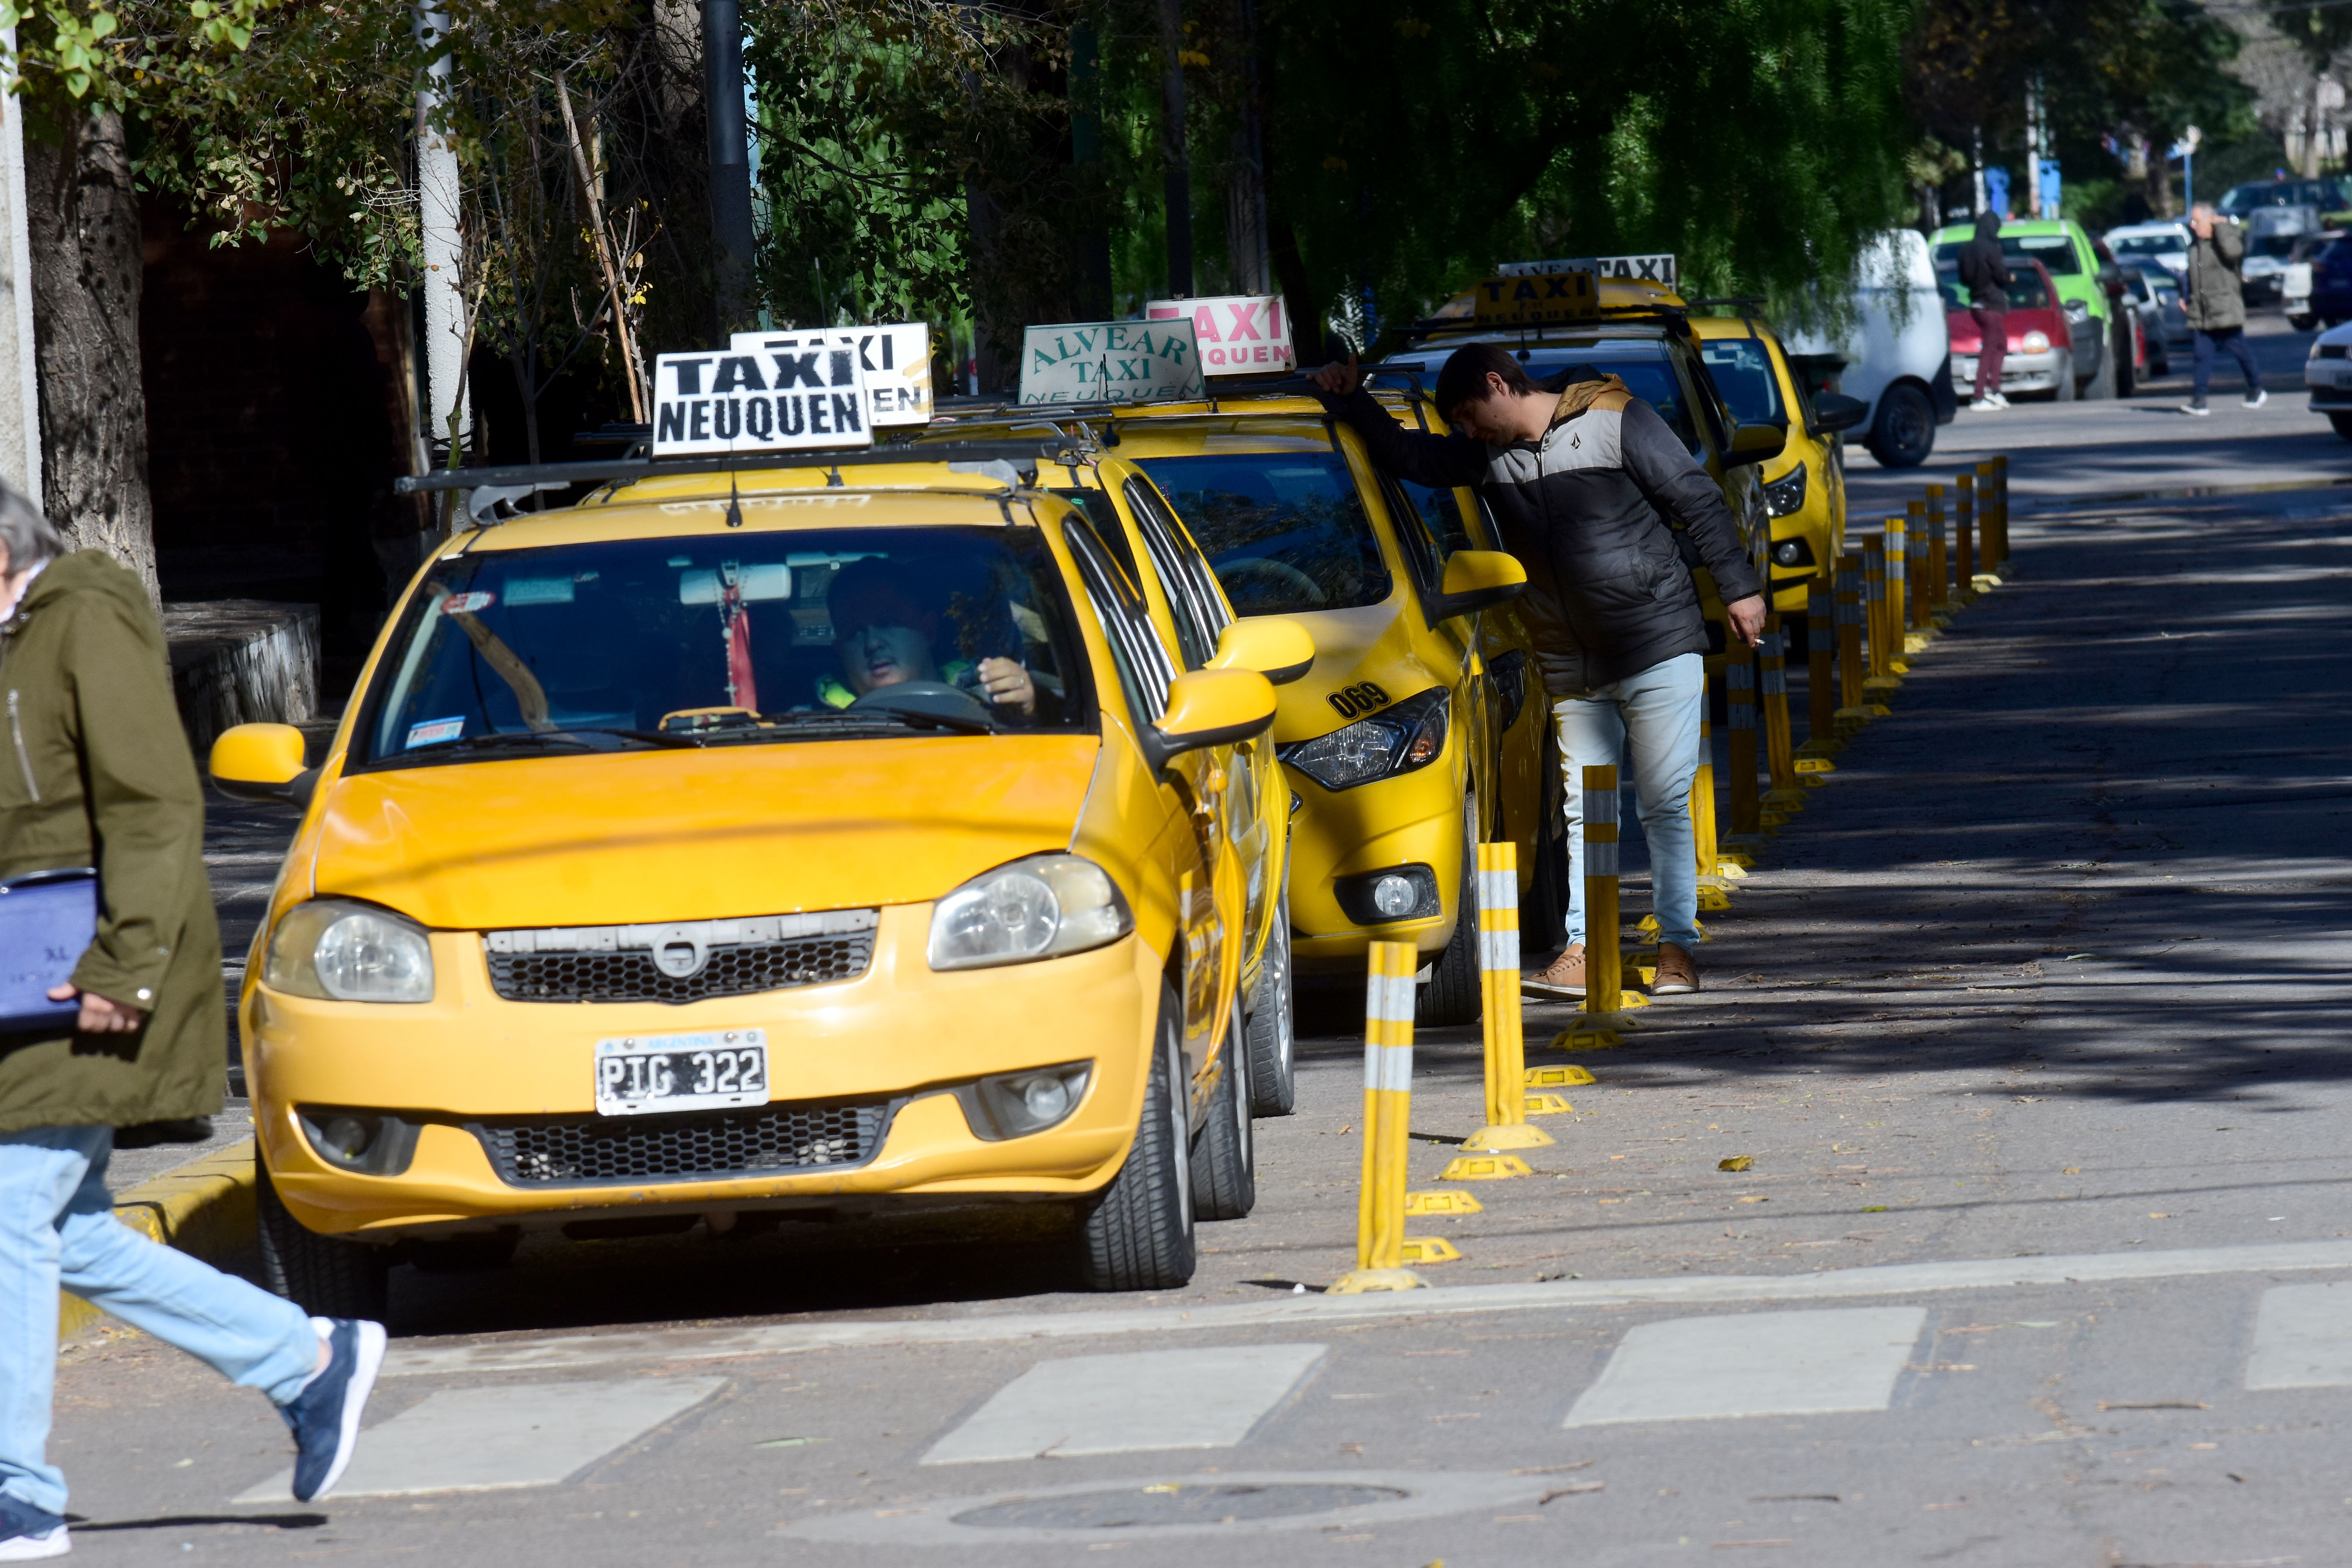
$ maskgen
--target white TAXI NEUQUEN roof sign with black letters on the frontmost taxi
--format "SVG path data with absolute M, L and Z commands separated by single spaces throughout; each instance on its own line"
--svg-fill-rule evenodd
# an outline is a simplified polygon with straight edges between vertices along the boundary
M 873 442 L 856 346 L 804 343 L 654 360 L 656 458 Z

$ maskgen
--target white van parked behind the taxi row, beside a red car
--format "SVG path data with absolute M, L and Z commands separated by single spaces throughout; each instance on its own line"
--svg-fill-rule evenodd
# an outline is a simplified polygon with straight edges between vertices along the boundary
M 1853 327 L 1839 341 L 1790 331 L 1783 346 L 1813 390 L 1870 404 L 1863 423 L 1870 456 L 1884 468 L 1917 468 L 1936 449 L 1936 425 L 1959 414 L 1952 336 L 1926 235 L 1917 228 L 1879 235 L 1853 273 Z

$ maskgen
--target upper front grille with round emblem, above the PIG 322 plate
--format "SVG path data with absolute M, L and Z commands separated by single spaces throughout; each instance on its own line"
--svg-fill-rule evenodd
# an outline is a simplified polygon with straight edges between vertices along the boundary
M 873 910 L 677 926 L 492 931 L 489 983 L 508 1001 L 703 1001 L 856 980 L 875 957 Z

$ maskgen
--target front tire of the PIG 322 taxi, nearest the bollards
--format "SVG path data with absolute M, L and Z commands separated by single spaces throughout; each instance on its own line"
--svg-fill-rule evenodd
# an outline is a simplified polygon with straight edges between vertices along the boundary
M 1127 1164 L 1080 1220 L 1089 1291 L 1176 1291 L 1192 1279 L 1192 1128 L 1185 1105 L 1183 1001 L 1160 983 L 1160 1048 Z

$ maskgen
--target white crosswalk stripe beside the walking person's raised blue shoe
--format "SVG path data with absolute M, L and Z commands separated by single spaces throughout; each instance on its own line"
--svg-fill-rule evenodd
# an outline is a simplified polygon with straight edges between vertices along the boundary
M 710 1399 L 724 1378 L 536 1382 L 428 1394 L 360 1432 L 336 1497 L 555 1486 Z M 289 1502 L 280 1472 L 238 1502 Z

